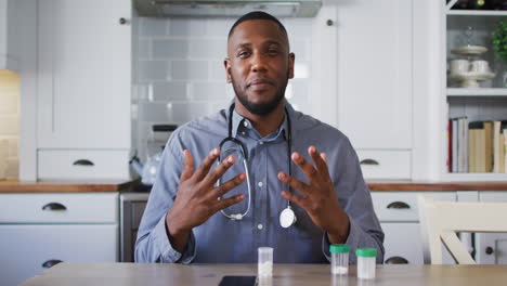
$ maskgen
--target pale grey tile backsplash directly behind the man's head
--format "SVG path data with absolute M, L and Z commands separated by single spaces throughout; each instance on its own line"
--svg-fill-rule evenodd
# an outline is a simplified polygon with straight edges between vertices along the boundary
M 133 18 L 132 94 L 141 159 L 158 150 L 150 147 L 152 125 L 182 125 L 225 108 L 234 98 L 223 66 L 226 36 L 234 21 Z M 312 80 L 312 20 L 287 18 L 282 23 L 296 54 L 296 75 L 289 80 L 286 98 L 296 109 L 301 109 L 309 102 Z

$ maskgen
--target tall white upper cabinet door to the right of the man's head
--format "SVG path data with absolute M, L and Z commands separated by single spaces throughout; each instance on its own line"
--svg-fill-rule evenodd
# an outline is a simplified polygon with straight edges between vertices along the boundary
M 412 0 L 338 4 L 338 126 L 355 148 L 412 147 Z

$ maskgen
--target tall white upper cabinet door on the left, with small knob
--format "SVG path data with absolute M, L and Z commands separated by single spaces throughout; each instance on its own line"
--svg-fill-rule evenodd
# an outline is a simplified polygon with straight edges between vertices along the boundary
M 38 5 L 39 148 L 130 147 L 130 5 Z

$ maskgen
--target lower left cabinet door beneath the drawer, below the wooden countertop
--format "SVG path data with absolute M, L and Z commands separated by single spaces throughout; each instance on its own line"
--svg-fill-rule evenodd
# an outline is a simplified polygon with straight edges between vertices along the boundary
M 57 261 L 118 261 L 118 225 L 0 225 L 1 284 L 18 285 Z

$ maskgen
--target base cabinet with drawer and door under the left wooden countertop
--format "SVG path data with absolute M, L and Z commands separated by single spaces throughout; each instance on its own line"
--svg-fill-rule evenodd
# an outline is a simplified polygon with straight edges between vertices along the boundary
M 0 194 L 0 276 L 18 285 L 58 261 L 118 261 L 118 193 Z

